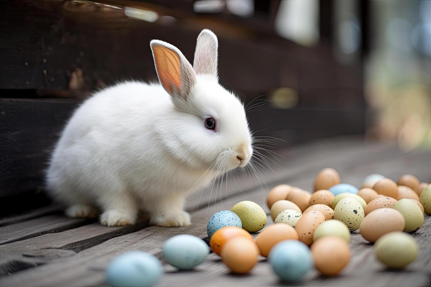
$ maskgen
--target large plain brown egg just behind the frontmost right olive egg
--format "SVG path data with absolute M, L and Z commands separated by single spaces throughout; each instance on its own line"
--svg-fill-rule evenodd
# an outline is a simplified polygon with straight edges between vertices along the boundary
M 392 231 L 403 231 L 406 221 L 394 208 L 378 208 L 365 216 L 359 229 L 363 238 L 375 242 L 378 238 Z

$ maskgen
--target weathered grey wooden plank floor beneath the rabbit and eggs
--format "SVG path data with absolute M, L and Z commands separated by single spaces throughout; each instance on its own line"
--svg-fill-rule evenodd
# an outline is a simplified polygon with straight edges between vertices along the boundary
M 206 223 L 216 211 L 231 209 L 239 201 L 251 200 L 269 212 L 265 204 L 268 188 L 282 183 L 311 190 L 315 175 L 323 167 L 334 167 L 342 182 L 359 186 L 370 173 L 397 179 L 412 173 L 430 181 L 431 151 L 402 153 L 395 145 L 364 143 L 354 138 L 339 138 L 277 151 L 283 168 L 272 163 L 263 170 L 265 179 L 238 177 L 217 195 L 205 190 L 191 195 L 187 210 L 192 225 L 184 228 L 148 226 L 140 223 L 126 227 L 105 227 L 94 220 L 69 219 L 55 207 L 38 209 L 24 215 L 0 219 L 0 286 L 104 286 L 104 269 L 115 256 L 127 250 L 143 250 L 160 257 L 164 242 L 178 234 L 206 237 Z M 275 159 L 273 159 L 276 161 Z M 283 166 L 283 164 L 285 166 Z M 264 181 L 264 182 L 262 182 Z M 217 196 L 217 199 L 215 198 Z M 272 220 L 269 217 L 269 222 Z M 257 235 L 253 235 L 257 236 Z M 164 265 L 159 286 L 430 286 L 431 217 L 414 234 L 421 251 L 403 272 L 384 268 L 376 261 L 372 244 L 358 233 L 352 234 L 352 259 L 343 272 L 333 278 L 309 272 L 301 282 L 285 283 L 273 274 L 263 257 L 247 275 L 234 275 L 210 254 L 193 271 L 178 271 Z

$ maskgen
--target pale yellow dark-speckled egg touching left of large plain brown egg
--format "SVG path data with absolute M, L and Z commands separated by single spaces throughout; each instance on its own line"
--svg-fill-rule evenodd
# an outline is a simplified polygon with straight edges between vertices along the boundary
M 355 231 L 364 219 L 364 209 L 354 198 L 341 198 L 334 209 L 334 219 L 342 221 L 350 231 Z

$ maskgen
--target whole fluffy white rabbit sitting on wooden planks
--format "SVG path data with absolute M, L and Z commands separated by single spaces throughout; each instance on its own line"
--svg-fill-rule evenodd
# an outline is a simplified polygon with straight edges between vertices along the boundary
M 47 171 L 47 190 L 72 217 L 186 226 L 184 200 L 253 154 L 241 102 L 218 83 L 217 37 L 203 30 L 194 67 L 152 40 L 160 84 L 126 82 L 97 92 L 73 114 Z

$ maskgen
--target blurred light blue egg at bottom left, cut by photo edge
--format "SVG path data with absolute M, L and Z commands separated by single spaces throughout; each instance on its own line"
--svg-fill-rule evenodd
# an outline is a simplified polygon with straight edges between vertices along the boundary
M 129 251 L 112 259 L 106 268 L 106 281 L 110 286 L 153 286 L 162 273 L 162 264 L 156 256 Z

